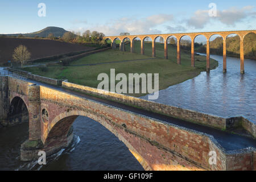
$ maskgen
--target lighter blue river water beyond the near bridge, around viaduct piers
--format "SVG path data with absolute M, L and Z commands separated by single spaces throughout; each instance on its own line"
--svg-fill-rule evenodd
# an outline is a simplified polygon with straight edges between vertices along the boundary
M 160 90 L 155 102 L 221 117 L 244 115 L 256 122 L 256 60 L 245 59 L 242 75 L 240 59 L 227 57 L 227 73 L 222 73 L 223 57 L 210 57 L 218 61 L 218 68 Z M 141 98 L 147 99 L 147 96 Z

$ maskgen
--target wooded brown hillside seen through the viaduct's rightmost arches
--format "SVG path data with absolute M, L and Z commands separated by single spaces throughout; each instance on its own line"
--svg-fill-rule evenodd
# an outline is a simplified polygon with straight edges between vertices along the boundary
M 256 35 L 246 35 L 243 42 L 245 58 L 256 60 Z M 201 46 L 196 51 L 205 53 L 206 45 Z M 210 53 L 214 55 L 223 55 L 223 40 L 221 37 L 210 42 Z M 238 36 L 232 36 L 226 39 L 226 53 L 228 56 L 240 57 L 240 38 Z

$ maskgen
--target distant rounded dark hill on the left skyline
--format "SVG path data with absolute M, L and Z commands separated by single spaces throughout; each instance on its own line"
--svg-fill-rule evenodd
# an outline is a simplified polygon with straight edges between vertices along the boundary
M 46 27 L 43 30 L 32 32 L 28 34 L 22 34 L 23 36 L 26 36 L 28 38 L 34 38 L 35 36 L 39 36 L 42 38 L 47 38 L 49 34 L 53 34 L 55 37 L 61 37 L 65 34 L 65 32 L 68 32 L 64 30 L 64 28 L 59 27 Z M 18 37 L 20 34 L 1 34 L 0 36 L 16 36 Z

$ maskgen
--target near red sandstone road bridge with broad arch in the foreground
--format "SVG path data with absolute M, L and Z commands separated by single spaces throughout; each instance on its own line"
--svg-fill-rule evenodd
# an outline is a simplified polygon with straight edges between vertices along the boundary
M 68 147 L 72 123 L 81 115 L 111 131 L 146 170 L 256 169 L 255 138 L 223 131 L 239 121 L 255 137 L 255 125 L 246 119 L 221 118 L 67 81 L 56 86 L 0 76 L 0 84 L 2 125 L 25 121 L 27 108 L 29 138 L 20 148 L 24 161 L 38 159 L 41 150 L 49 156 Z M 9 119 L 13 113 L 21 116 Z M 224 138 L 224 145 L 215 138 Z M 230 140 L 238 140 L 237 146 L 229 146 Z M 216 152 L 216 164 L 209 164 L 210 151 Z

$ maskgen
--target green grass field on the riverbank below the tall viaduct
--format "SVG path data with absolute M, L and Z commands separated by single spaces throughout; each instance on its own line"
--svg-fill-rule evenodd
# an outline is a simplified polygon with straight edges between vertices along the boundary
M 141 52 L 140 42 L 135 42 L 135 52 Z M 145 55 L 140 53 L 130 53 L 129 45 L 126 45 L 126 51 L 121 52 L 118 49 L 96 53 L 83 57 L 80 60 L 73 61 L 69 66 L 54 66 L 47 68 L 31 67 L 23 68 L 26 71 L 36 75 L 68 79 L 80 85 L 97 88 L 101 81 L 97 81 L 100 73 L 107 73 L 110 77 L 110 69 L 115 68 L 115 74 L 125 73 L 159 73 L 159 89 L 165 89 L 168 86 L 178 84 L 205 71 L 206 57 L 195 56 L 195 68 L 191 67 L 191 55 L 187 51 L 181 51 L 181 65 L 176 64 L 176 49 L 169 46 L 169 59 L 163 59 L 163 44 L 156 43 L 156 58 L 151 57 L 151 44 L 145 43 Z M 139 60 L 143 59 L 143 60 Z M 108 63 L 110 61 L 135 60 L 122 63 L 98 64 L 83 66 L 82 64 Z M 217 67 L 218 62 L 210 60 L 210 68 Z M 117 81 L 118 82 L 118 81 Z M 143 94 L 129 94 L 131 96 L 143 96 Z

